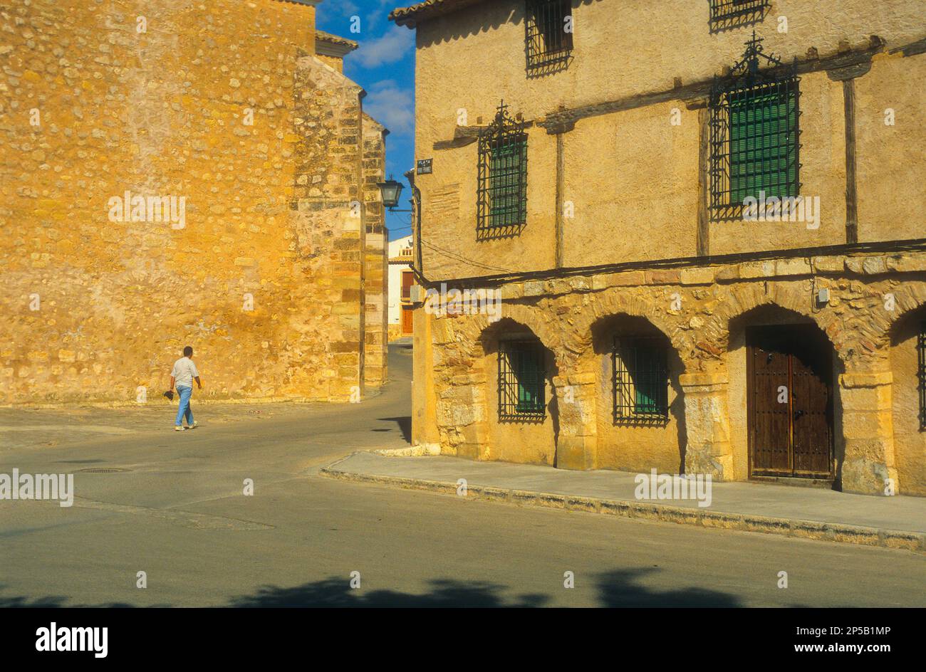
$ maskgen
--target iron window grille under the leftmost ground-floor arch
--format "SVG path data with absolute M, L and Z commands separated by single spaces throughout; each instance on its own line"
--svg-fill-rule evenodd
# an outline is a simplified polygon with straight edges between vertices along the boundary
M 503 341 L 498 348 L 498 419 L 546 417 L 544 350 L 537 341 Z

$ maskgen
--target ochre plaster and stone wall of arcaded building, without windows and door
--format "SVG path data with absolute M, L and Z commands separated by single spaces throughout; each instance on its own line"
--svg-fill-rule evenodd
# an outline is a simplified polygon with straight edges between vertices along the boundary
M 416 176 L 419 272 L 426 287 L 500 288 L 507 325 L 416 310 L 413 441 L 476 459 L 745 479 L 744 325 L 811 322 L 832 345 L 840 486 L 882 492 L 893 479 L 926 494 L 921 432 L 906 436 L 918 384 L 908 332 L 892 352 L 898 320 L 926 300 L 926 107 L 910 85 L 926 74 L 921 3 L 776 0 L 722 31 L 707 2 L 643 5 L 572 3 L 573 49 L 542 74 L 525 68 L 523 3 L 412 17 L 416 147 L 432 157 Z M 799 193 L 819 198 L 819 222 L 709 209 L 711 87 L 753 31 L 799 75 Z M 477 139 L 503 100 L 527 134 L 527 216 L 510 235 L 481 236 Z M 815 303 L 821 289 L 828 304 Z M 608 417 L 594 331 L 628 317 L 671 343 L 665 427 Z M 497 421 L 492 354 L 507 330 L 552 354 L 548 422 Z

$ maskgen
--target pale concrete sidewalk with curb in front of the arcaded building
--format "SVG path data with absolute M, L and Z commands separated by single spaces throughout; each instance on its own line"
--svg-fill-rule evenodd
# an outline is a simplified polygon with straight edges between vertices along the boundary
M 712 528 L 905 548 L 926 553 L 926 498 L 875 497 L 766 483 L 712 483 L 695 499 L 638 500 L 635 474 L 473 462 L 457 457 L 348 455 L 321 470 L 337 479 L 396 485 L 512 504 L 643 517 Z

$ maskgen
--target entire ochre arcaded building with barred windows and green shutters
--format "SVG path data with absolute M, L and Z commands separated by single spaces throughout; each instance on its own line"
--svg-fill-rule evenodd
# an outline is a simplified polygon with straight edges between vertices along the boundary
M 432 159 L 414 442 L 926 495 L 920 3 L 391 17 Z

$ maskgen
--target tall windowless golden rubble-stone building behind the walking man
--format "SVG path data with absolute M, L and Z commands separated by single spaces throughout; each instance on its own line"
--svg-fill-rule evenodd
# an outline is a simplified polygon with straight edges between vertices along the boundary
M 386 376 L 387 131 L 317 0 L 0 6 L 0 403 L 136 404 Z

